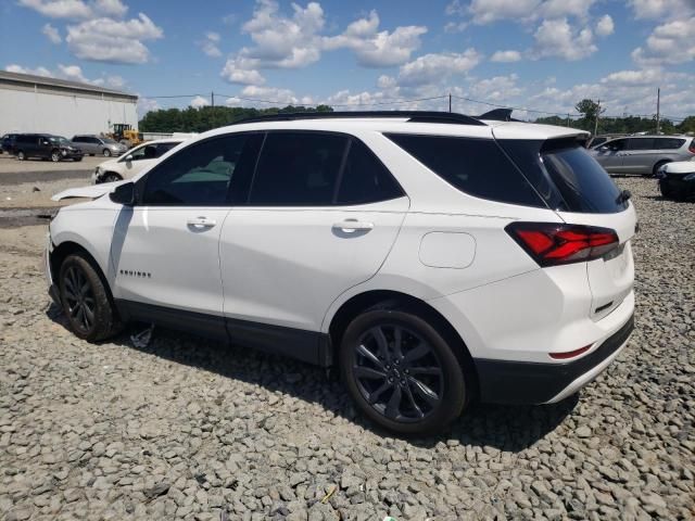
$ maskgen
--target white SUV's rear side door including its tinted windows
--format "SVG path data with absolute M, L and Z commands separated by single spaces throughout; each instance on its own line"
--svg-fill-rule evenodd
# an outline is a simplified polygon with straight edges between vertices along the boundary
M 241 202 L 243 203 L 243 202 Z M 250 195 L 232 206 L 220 238 L 224 312 L 232 340 L 301 350 L 330 304 L 378 270 L 409 206 L 391 174 L 359 140 L 270 131 Z M 280 329 L 278 329 L 278 327 Z M 292 352 L 312 359 L 315 351 Z

